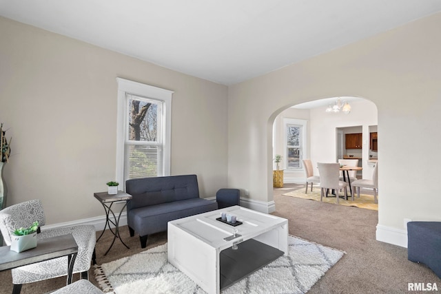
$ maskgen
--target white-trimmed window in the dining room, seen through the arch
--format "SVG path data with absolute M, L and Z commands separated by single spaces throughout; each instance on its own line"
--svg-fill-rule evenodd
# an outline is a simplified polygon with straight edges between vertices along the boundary
M 302 169 L 302 159 L 307 158 L 307 120 L 285 118 L 285 167 Z

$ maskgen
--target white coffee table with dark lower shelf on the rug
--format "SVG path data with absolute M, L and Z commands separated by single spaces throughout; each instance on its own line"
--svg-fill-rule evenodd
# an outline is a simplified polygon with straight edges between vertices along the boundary
M 226 212 L 243 222 L 216 220 Z M 238 232 L 232 240 L 225 240 Z M 238 245 L 233 250 L 232 246 Z M 168 261 L 209 294 L 288 253 L 288 220 L 234 206 L 168 222 Z

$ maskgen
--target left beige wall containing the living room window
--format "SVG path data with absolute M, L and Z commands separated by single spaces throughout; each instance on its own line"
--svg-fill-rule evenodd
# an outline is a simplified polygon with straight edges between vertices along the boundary
M 202 197 L 227 186 L 227 87 L 0 17 L 8 204 L 40 198 L 48 224 L 102 216 L 116 169 L 116 77 L 174 91 L 171 173 Z

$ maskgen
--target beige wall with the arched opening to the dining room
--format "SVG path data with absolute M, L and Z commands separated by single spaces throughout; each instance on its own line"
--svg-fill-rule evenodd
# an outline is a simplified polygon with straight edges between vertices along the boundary
M 276 115 L 318 98 L 359 96 L 378 109 L 379 227 L 393 234 L 404 218 L 441 220 L 440 26 L 434 14 L 229 87 L 229 185 L 271 201 Z

